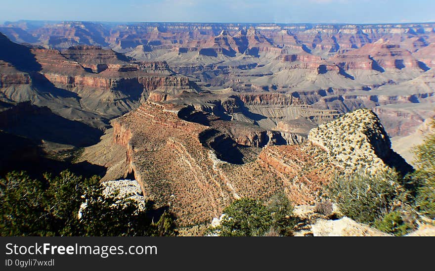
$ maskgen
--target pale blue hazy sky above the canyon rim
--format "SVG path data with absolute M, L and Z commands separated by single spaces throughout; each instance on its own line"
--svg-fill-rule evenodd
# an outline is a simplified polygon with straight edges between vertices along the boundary
M 27 20 L 129 22 L 435 22 L 435 0 L 1 0 L 0 23 Z

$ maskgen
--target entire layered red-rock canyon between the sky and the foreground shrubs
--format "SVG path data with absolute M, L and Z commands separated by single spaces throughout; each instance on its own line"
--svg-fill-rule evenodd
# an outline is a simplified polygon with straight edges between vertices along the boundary
M 0 173 L 44 157 L 135 180 L 185 228 L 242 197 L 313 205 L 338 172 L 406 174 L 435 116 L 434 27 L 5 22 Z

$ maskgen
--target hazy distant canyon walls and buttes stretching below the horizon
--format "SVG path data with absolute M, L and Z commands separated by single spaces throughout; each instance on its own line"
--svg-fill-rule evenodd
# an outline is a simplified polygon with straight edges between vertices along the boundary
M 434 107 L 433 23 L 17 21 L 5 22 L 0 32 L 13 42 L 57 49 L 84 69 L 105 73 L 105 78 L 125 65 L 122 61 L 152 61 L 155 63 L 152 73 L 162 74 L 170 67 L 171 72 L 187 76 L 202 90 L 231 88 L 239 92 L 288 93 L 314 108 L 337 110 L 341 114 L 361 107 L 372 108 L 389 135 L 397 137 L 394 140 L 413 134 L 424 120 L 434 116 L 431 110 L 418 109 Z M 74 46 L 78 47 L 70 49 Z M 101 48 L 114 51 L 103 56 L 98 52 Z M 133 76 L 132 70 L 146 70 L 143 66 L 121 68 L 124 72 L 129 69 L 129 77 Z M 70 87 L 96 84 L 95 87 L 120 89 L 137 84 L 131 80 L 101 82 L 101 76 L 94 75 L 86 82 L 77 77 L 50 80 L 69 83 Z M 152 89 L 162 83 L 149 84 Z M 185 86 L 187 82 L 167 84 Z M 117 113 L 137 107 L 127 100 L 123 100 L 127 104 L 119 105 Z M 391 106 L 402 103 L 412 103 L 413 109 Z M 405 116 L 411 116 L 411 121 Z M 264 126 L 259 124 L 267 129 L 274 129 L 277 124 L 263 123 Z

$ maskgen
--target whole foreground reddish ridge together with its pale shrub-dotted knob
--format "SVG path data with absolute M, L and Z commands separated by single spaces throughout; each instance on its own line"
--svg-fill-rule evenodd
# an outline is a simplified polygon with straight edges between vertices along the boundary
M 122 151 L 109 149 L 102 141 L 88 147 L 82 159 L 108 167 L 110 177 L 105 180 L 134 175 L 144 196 L 157 206 L 170 206 L 182 226 L 210 223 L 234 199 L 265 200 L 280 190 L 295 204 L 314 204 L 334 172 L 348 171 L 342 160 L 353 156 L 336 150 L 336 145 L 355 149 L 355 167 L 403 166 L 394 164 L 398 160 L 388 164 L 382 160 L 391 156 L 391 143 L 370 110 L 348 113 L 312 129 L 309 141 L 295 136 L 280 143 L 273 140 L 273 131 L 262 134 L 253 125 L 213 114 L 197 112 L 191 113 L 196 118 L 180 118 L 189 106 L 149 100 L 112 122 L 112 142 L 104 144 L 121 146 Z M 351 125 L 355 118 L 361 128 Z M 329 142 L 328 135 L 338 131 L 340 136 Z M 105 150 L 106 158 L 97 154 L 98 149 Z

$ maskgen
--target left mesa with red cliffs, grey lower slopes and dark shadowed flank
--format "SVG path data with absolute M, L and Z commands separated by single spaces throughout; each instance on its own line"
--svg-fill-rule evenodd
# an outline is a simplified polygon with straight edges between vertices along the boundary
M 0 35 L 0 93 L 4 102 L 30 101 L 62 117 L 102 128 L 140 103 L 150 91 L 196 91 L 166 62 L 131 62 L 98 46 L 61 52 L 10 42 Z

